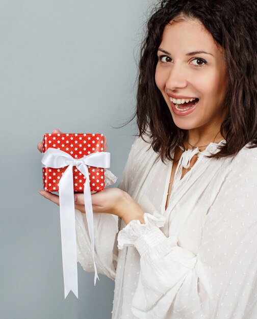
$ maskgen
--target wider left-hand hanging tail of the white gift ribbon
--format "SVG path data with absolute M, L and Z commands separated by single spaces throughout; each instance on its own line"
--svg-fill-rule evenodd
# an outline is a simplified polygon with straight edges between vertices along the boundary
M 64 299 L 70 290 L 79 298 L 72 165 L 59 183 Z

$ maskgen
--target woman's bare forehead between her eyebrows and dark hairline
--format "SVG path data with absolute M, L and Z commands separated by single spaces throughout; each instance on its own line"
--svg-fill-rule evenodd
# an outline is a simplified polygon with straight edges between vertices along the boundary
M 165 26 L 160 45 L 165 50 L 181 48 L 188 51 L 204 50 L 215 53 L 222 51 L 213 36 L 198 20 L 183 19 L 171 21 Z

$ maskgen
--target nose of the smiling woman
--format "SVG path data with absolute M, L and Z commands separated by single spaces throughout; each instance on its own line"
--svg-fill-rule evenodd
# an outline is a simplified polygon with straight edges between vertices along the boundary
M 187 80 L 183 67 L 179 64 L 173 64 L 167 77 L 166 88 L 174 91 L 175 89 L 185 88 L 186 86 Z

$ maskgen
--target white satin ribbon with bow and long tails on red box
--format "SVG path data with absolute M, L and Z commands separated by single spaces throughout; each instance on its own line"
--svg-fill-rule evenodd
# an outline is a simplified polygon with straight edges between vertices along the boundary
M 60 196 L 60 223 L 62 240 L 62 260 L 64 278 L 64 299 L 71 290 L 78 297 L 78 268 L 76 256 L 76 230 L 75 230 L 75 206 L 73 193 L 73 166 L 76 166 L 86 177 L 84 184 L 84 201 L 89 237 L 91 241 L 92 258 L 94 263 L 94 284 L 99 280 L 94 259 L 94 225 L 89 174 L 87 166 L 109 168 L 110 153 L 92 153 L 83 158 L 76 159 L 70 154 L 55 148 L 48 148 L 43 154 L 42 164 L 45 167 L 67 167 L 59 182 Z

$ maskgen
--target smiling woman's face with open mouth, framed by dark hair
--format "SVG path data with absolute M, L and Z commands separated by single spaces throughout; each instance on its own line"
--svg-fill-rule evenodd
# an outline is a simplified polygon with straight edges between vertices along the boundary
M 227 81 L 223 52 L 212 35 L 198 20 L 168 24 L 158 58 L 156 84 L 175 125 L 217 133 Z

